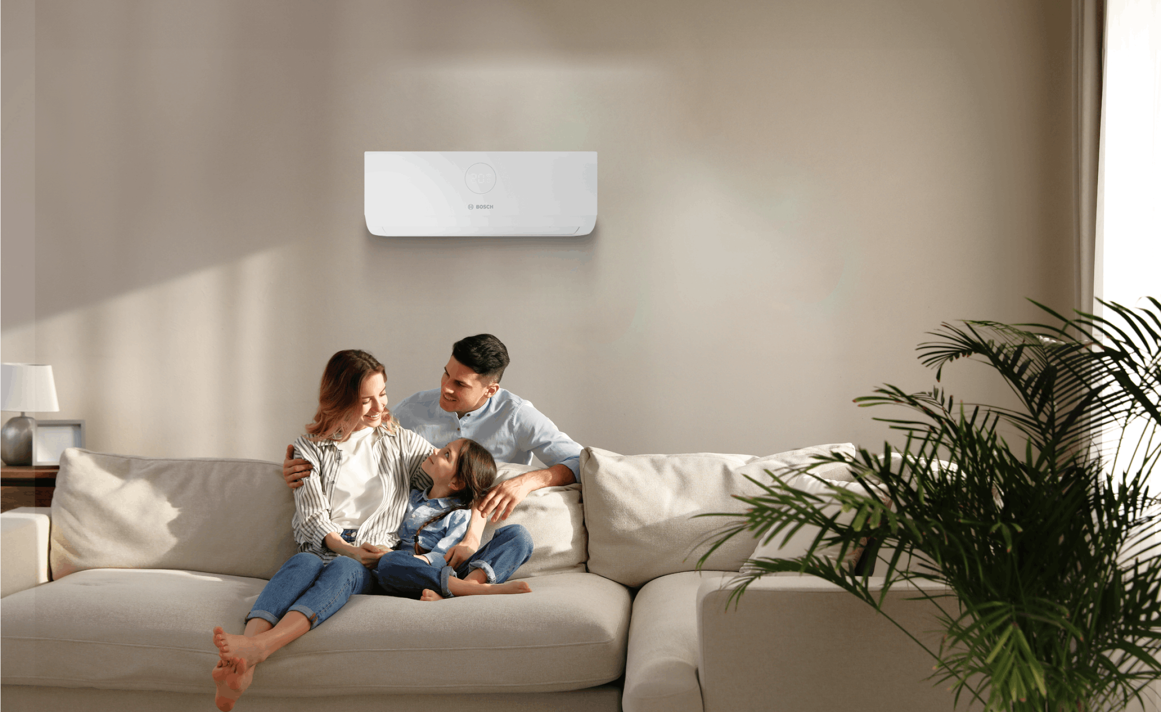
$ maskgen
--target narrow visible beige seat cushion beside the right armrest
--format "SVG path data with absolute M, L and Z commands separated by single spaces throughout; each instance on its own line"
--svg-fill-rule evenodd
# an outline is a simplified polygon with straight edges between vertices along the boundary
M 654 578 L 633 599 L 625 661 L 625 712 L 701 712 L 698 589 L 734 571 L 682 571 Z

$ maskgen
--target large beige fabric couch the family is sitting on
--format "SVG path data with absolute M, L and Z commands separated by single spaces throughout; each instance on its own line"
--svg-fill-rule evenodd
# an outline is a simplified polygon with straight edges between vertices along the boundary
M 727 609 L 753 539 L 694 570 L 724 520 L 693 515 L 740 511 L 745 474 L 829 447 L 587 448 L 580 483 L 534 492 L 509 520 L 536 542 L 514 576 L 532 594 L 355 596 L 262 663 L 236 710 L 950 710 L 920 682 L 922 650 L 824 582 L 769 577 Z M 51 511 L 0 517 L 5 710 L 212 710 L 210 631 L 241 632 L 295 551 L 293 509 L 275 463 L 66 451 Z M 896 614 L 933 627 L 903 596 Z

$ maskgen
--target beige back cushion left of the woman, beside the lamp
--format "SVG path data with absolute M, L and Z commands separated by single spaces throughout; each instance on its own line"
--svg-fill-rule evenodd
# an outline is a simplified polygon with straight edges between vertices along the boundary
M 293 516 L 294 495 L 274 462 L 70 447 L 52 494 L 49 563 L 53 578 L 92 568 L 269 578 L 298 551 Z

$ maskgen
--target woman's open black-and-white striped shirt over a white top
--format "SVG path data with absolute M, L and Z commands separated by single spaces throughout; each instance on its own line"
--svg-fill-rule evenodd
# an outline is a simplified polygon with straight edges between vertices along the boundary
M 368 516 L 355 535 L 354 546 L 370 542 L 394 548 L 399 541 L 398 528 L 408 511 L 412 487 L 426 490 L 431 477 L 420 468 L 434 447 L 421 437 L 404 430 L 390 432 L 380 425 L 372 434 L 375 470 L 382 481 L 383 501 Z M 295 512 L 291 526 L 300 552 L 309 552 L 330 561 L 337 555 L 323 544 L 331 532 L 342 533 L 342 527 L 331 520 L 331 495 L 339 474 L 341 452 L 333 440 L 313 441 L 302 436 L 294 441 L 294 456 L 311 463 L 311 476 L 294 490 Z

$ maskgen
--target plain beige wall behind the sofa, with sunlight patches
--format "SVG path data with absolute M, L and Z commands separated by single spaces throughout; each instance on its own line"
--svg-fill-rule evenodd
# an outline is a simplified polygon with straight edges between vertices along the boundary
M 279 459 L 336 350 L 397 401 L 479 331 L 586 445 L 874 444 L 851 398 L 930 386 L 925 331 L 1070 307 L 1068 37 L 1052 0 L 39 0 L 3 358 L 124 453 Z M 367 150 L 598 151 L 597 230 L 370 236 Z

